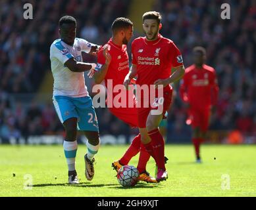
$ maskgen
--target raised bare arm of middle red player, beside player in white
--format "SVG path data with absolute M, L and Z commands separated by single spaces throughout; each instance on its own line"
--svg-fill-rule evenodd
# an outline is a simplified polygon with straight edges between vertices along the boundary
M 93 74 L 93 79 L 96 84 L 100 84 L 107 74 L 107 70 L 109 70 L 109 64 L 111 63 L 111 55 L 109 54 L 109 45 L 106 45 L 103 49 L 103 55 L 105 57 L 105 64 L 101 66 L 101 68 L 96 68 L 96 72 Z

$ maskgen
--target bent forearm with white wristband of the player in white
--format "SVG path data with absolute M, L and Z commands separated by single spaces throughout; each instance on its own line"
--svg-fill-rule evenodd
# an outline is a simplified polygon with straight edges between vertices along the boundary
M 94 69 L 96 67 L 96 64 L 77 62 L 76 60 L 74 60 L 74 58 L 70 58 L 64 63 L 64 66 L 69 68 L 69 70 L 72 72 L 86 72 Z

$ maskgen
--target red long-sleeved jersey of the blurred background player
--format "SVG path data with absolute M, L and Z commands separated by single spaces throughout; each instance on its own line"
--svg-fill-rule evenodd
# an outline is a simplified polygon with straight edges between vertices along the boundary
M 186 68 L 180 85 L 180 96 L 192 108 L 209 108 L 216 104 L 218 83 L 215 69 L 205 64 L 201 69 L 195 65 Z

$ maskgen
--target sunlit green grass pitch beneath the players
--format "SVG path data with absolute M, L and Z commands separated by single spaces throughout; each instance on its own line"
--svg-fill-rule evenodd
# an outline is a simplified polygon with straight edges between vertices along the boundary
M 76 170 L 80 184 L 70 186 L 61 145 L 0 145 L 0 196 L 256 196 L 256 146 L 209 145 L 201 148 L 203 163 L 194 162 L 192 145 L 166 145 L 168 180 L 139 182 L 124 188 L 111 167 L 128 146 L 101 146 L 95 177 L 84 176 L 85 145 L 79 145 Z M 130 161 L 137 165 L 138 156 Z M 147 171 L 155 166 L 149 160 Z M 32 180 L 32 188 L 26 186 Z

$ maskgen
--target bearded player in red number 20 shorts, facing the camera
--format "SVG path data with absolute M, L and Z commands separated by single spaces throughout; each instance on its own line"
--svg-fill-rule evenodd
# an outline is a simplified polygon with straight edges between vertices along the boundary
M 141 141 L 156 161 L 156 179 L 159 182 L 168 178 L 165 144 L 159 132 L 159 123 L 172 102 L 170 83 L 178 81 L 184 75 L 184 66 L 182 55 L 173 41 L 159 34 L 162 28 L 161 14 L 155 11 L 145 12 L 142 20 L 145 37 L 138 37 L 132 42 L 132 68 L 126 75 L 124 85 L 128 87 L 131 79 L 137 75 L 136 84 L 149 89 L 143 90 L 143 94 L 137 98 L 141 104 L 138 107 L 138 125 Z M 175 70 L 173 74 L 172 68 Z M 151 95 L 155 97 L 152 98 Z M 143 138 L 144 135 L 149 135 L 150 138 Z

